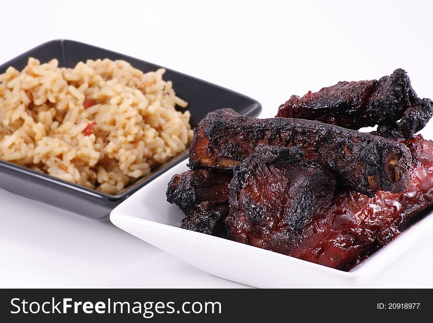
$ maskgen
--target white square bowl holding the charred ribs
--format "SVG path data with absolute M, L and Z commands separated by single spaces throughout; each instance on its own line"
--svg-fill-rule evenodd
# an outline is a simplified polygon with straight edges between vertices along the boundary
M 141 188 L 110 214 L 120 229 L 210 274 L 259 288 L 354 288 L 371 280 L 433 230 L 428 215 L 351 271 L 180 228 L 184 213 L 166 201 L 167 184 L 186 161 Z

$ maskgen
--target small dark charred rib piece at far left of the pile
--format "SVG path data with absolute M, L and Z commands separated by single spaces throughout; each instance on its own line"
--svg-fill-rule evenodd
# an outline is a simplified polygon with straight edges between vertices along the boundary
M 186 171 L 172 177 L 167 201 L 184 211 L 182 228 L 228 237 L 224 219 L 228 214 L 228 194 L 232 176 L 213 170 Z

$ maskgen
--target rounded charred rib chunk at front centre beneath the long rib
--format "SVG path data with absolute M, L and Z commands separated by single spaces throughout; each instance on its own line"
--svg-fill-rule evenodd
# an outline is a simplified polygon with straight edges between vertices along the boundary
M 297 232 L 314 212 L 329 205 L 335 176 L 325 167 L 300 159 L 298 147 L 259 145 L 233 170 L 230 216 L 245 217 L 255 236 Z

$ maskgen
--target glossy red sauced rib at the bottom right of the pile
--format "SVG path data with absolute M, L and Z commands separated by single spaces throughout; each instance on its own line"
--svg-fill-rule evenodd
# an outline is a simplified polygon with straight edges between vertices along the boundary
M 225 222 L 239 242 L 347 269 L 398 236 L 414 215 L 433 204 L 433 142 L 418 135 L 405 145 L 413 162 L 409 187 L 400 194 L 378 192 L 368 198 L 349 190 L 337 192 L 331 204 L 316 211 L 307 226 L 295 234 L 272 221 L 260 222 L 257 230 L 249 210 L 239 211 L 236 203 Z M 261 187 L 272 189 L 272 178 L 260 180 L 264 180 Z

